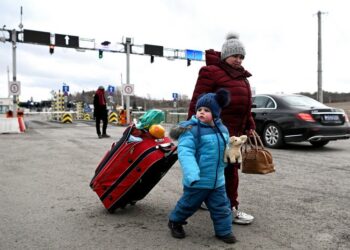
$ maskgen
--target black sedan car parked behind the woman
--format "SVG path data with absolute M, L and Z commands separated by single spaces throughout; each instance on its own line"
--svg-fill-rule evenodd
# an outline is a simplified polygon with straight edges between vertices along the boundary
M 350 138 L 349 119 L 342 109 L 297 94 L 256 95 L 252 101 L 256 131 L 267 147 L 304 141 L 323 147 Z

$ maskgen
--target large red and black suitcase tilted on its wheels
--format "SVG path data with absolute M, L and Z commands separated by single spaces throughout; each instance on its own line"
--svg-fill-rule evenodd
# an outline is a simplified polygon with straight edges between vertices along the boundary
M 101 160 L 90 187 L 113 212 L 143 199 L 176 161 L 170 138 L 156 139 L 131 125 Z

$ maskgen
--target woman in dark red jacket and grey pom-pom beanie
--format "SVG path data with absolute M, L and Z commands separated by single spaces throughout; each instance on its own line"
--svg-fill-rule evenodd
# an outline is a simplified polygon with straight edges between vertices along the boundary
M 231 102 L 222 110 L 221 119 L 230 136 L 252 134 L 255 123 L 251 115 L 252 94 L 247 80 L 251 74 L 242 66 L 245 55 L 245 48 L 236 33 L 227 34 L 221 53 L 212 49 L 206 51 L 207 65 L 199 71 L 187 119 L 195 113 L 196 102 L 201 94 L 225 88 L 230 92 Z M 239 163 L 231 162 L 225 169 L 226 192 L 231 202 L 233 223 L 250 224 L 254 217 L 238 210 L 239 168 Z

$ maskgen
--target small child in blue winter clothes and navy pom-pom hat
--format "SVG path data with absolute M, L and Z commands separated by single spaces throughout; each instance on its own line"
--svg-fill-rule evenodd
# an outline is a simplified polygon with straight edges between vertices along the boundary
M 169 215 L 168 227 L 175 238 L 186 236 L 183 225 L 202 202 L 208 207 L 215 236 L 235 243 L 232 211 L 225 190 L 224 150 L 229 132 L 220 120 L 221 108 L 229 103 L 229 93 L 220 89 L 201 96 L 196 115 L 170 131 L 178 139 L 178 157 L 183 172 L 184 192 Z

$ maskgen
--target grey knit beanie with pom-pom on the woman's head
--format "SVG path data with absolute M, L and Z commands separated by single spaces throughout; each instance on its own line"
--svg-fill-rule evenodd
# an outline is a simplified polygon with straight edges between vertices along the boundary
M 238 39 L 239 35 L 237 33 L 230 32 L 226 35 L 226 41 L 221 49 L 221 60 L 225 60 L 227 57 L 233 55 L 245 56 L 243 43 Z

